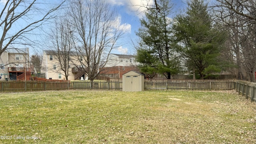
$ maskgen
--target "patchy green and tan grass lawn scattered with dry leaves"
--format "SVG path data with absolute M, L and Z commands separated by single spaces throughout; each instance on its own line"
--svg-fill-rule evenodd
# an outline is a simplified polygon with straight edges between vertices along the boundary
M 0 136 L 4 144 L 255 144 L 256 104 L 234 91 L 1 93 Z

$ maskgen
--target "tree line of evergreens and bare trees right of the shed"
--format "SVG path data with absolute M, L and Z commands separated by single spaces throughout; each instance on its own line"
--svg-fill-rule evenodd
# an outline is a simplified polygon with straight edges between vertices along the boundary
M 140 20 L 137 60 L 148 78 L 194 72 L 205 79 L 225 71 L 255 82 L 254 0 L 190 0 L 172 18 L 173 6 L 157 0 Z

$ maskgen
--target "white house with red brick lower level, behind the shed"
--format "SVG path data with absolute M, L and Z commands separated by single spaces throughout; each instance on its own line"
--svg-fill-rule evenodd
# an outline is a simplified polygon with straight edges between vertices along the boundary
M 122 75 L 131 70 L 138 71 L 138 62 L 134 55 L 110 54 L 106 66 L 100 74 L 110 78 L 122 78 Z

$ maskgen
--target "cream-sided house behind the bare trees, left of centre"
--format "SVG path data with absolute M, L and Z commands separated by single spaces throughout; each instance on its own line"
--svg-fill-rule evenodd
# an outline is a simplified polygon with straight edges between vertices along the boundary
M 77 68 L 80 65 L 80 61 L 83 60 L 83 56 L 77 56 L 76 52 L 70 54 L 70 62 L 68 65 L 68 80 L 81 80 L 86 79 L 85 72 L 82 69 Z M 42 56 L 42 68 L 41 74 L 45 73 L 46 79 L 52 80 L 65 80 L 65 74 L 60 69 L 60 62 L 56 56 L 56 51 L 54 50 L 44 50 Z M 82 77 L 82 78 L 81 78 Z

